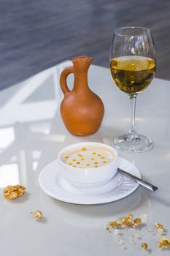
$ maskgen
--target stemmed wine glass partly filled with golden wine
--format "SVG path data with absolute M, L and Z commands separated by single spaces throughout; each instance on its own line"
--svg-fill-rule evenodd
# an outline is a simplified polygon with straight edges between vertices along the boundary
M 135 127 L 136 96 L 149 86 L 155 75 L 155 46 L 150 29 L 123 27 L 112 39 L 109 67 L 116 86 L 131 99 L 131 129 L 114 140 L 123 151 L 142 152 L 152 148 L 152 140 L 138 135 Z

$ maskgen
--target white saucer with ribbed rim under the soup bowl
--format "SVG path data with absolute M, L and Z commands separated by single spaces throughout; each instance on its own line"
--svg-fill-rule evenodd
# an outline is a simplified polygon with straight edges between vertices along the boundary
M 120 169 L 141 178 L 141 173 L 135 165 L 120 157 L 118 160 Z M 90 189 L 74 187 L 61 176 L 58 160 L 55 160 L 42 169 L 39 174 L 39 186 L 47 195 L 63 202 L 95 205 L 127 197 L 139 187 L 139 184 L 117 173 L 111 181 L 101 187 Z

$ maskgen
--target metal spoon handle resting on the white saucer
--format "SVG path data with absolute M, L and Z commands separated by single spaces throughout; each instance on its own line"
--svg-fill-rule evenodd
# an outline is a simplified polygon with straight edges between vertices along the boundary
M 154 185 L 150 184 L 147 181 L 144 181 L 142 178 L 138 178 L 131 173 L 125 172 L 125 170 L 121 170 L 120 168 L 117 168 L 117 172 L 120 174 L 123 174 L 124 176 L 131 178 L 131 180 L 135 181 L 136 183 L 142 185 L 143 187 L 146 187 L 147 189 L 152 190 L 153 192 L 158 189 L 158 187 L 155 187 Z

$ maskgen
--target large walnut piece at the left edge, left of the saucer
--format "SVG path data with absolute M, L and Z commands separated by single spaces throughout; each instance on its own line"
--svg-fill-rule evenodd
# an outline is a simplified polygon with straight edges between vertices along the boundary
M 7 186 L 4 188 L 4 197 L 9 200 L 21 197 L 25 189 L 26 187 L 21 185 Z

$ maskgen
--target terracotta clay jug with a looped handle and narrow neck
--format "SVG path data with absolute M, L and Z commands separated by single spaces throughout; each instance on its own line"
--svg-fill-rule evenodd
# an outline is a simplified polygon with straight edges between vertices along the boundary
M 64 94 L 61 102 L 61 116 L 66 129 L 72 135 L 91 135 L 98 130 L 104 116 L 101 99 L 88 87 L 88 69 L 92 58 L 78 56 L 72 59 L 73 66 L 61 72 L 60 83 Z M 74 74 L 74 86 L 69 90 L 66 78 Z

